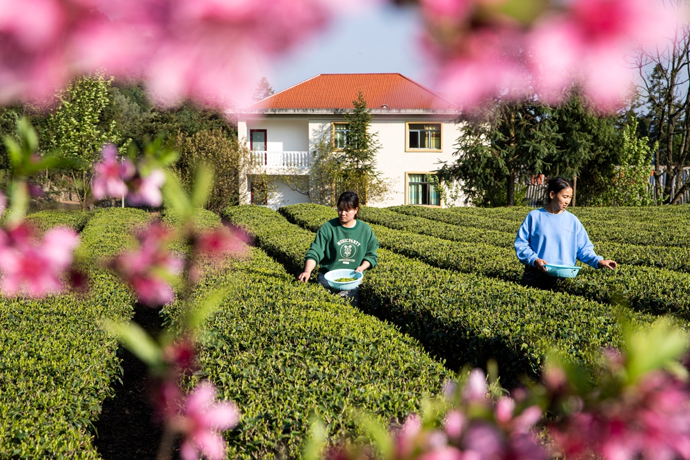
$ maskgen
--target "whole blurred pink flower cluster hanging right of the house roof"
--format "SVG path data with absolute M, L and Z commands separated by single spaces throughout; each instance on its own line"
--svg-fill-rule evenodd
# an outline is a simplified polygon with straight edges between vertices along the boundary
M 517 8 L 514 0 L 421 3 L 440 90 L 464 106 L 531 92 L 558 102 L 580 83 L 601 108 L 611 108 L 631 78 L 625 54 L 666 39 L 680 14 L 654 0 L 557 2 L 529 18 L 506 13 Z

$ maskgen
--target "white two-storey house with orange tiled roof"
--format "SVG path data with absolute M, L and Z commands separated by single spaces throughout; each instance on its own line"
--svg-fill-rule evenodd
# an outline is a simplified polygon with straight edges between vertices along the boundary
M 370 204 L 448 205 L 425 177 L 439 161 L 453 160 L 457 107 L 401 74 L 320 74 L 238 110 L 237 135 L 253 151 L 259 174 L 289 178 L 273 181 L 276 192 L 266 199 L 254 190 L 257 175 L 248 174 L 242 184 L 248 201 L 272 208 L 308 202 L 295 183 L 308 181 L 320 139 L 335 146 L 343 141 L 343 112 L 353 108 L 360 90 L 371 110 L 370 130 L 381 144 L 376 168 L 393 182 L 386 201 Z

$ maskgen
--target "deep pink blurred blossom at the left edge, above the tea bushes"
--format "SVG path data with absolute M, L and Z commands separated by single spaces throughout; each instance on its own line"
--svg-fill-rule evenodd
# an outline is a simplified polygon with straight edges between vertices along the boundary
M 53 228 L 43 241 L 26 223 L 0 230 L 0 271 L 3 294 L 39 298 L 63 290 L 61 277 L 72 264 L 79 237 L 72 230 Z

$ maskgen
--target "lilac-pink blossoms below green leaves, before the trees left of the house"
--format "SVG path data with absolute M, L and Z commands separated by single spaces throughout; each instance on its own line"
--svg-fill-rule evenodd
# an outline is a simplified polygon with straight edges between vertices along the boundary
M 161 187 L 166 181 L 163 170 L 156 168 L 141 174 L 130 159 L 117 160 L 117 148 L 112 144 L 103 147 L 103 161 L 95 166 L 91 190 L 95 199 L 127 197 L 133 205 L 161 206 Z

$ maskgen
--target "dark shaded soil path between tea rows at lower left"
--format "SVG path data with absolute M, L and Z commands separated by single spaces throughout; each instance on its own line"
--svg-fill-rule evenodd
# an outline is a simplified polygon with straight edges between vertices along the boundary
M 137 305 L 134 321 L 153 337 L 161 330 L 158 310 Z M 121 348 L 122 384 L 115 383 L 115 397 L 103 401 L 94 426 L 95 446 L 103 460 L 155 459 L 163 430 L 153 420 L 146 365 Z

